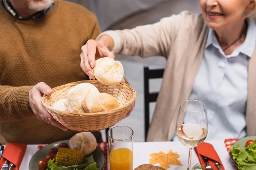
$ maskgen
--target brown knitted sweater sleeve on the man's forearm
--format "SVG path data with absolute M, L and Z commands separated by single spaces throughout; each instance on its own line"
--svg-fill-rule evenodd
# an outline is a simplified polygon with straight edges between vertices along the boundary
M 34 115 L 28 100 L 32 87 L 0 85 L 0 122 L 17 121 Z

